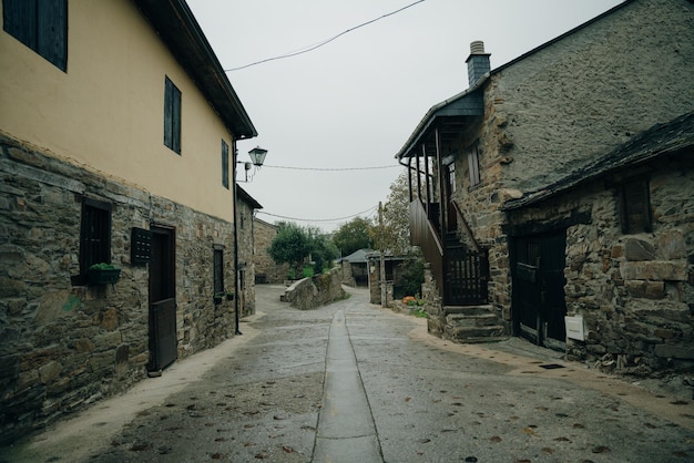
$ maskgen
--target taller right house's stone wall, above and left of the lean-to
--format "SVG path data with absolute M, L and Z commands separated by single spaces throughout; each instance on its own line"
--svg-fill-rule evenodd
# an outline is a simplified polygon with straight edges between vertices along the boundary
M 625 4 L 493 71 L 482 89 L 483 120 L 455 144 L 441 146 L 442 153 L 457 153 L 453 198 L 476 240 L 489 249 L 490 302 L 509 332 L 509 244 L 500 207 L 655 123 L 691 111 L 694 41 L 681 38 L 692 30 L 691 2 Z M 479 153 L 478 185 L 469 181 L 466 150 L 471 145 Z M 459 232 L 466 236 L 462 226 Z

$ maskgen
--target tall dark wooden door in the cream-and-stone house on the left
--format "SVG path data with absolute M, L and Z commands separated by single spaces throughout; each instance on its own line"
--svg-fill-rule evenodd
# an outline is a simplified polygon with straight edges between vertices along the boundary
M 150 371 L 160 371 L 177 358 L 175 234 L 152 227 L 150 261 Z

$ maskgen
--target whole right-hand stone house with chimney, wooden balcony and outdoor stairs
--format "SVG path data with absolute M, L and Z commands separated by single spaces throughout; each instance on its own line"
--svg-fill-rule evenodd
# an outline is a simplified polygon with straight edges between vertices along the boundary
M 494 70 L 472 43 L 397 154 L 430 331 L 692 367 L 692 30 L 691 1 L 632 0 Z

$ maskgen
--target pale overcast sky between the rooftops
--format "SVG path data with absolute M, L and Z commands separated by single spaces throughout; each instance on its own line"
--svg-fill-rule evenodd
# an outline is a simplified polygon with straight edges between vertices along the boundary
M 258 132 L 238 143 L 239 160 L 268 150 L 266 165 L 239 183 L 264 206 L 258 218 L 333 232 L 375 217 L 404 171 L 395 154 L 432 105 L 468 88 L 470 42 L 484 42 L 493 70 L 621 3 L 415 1 L 187 0 L 224 69 L 343 33 L 227 72 Z

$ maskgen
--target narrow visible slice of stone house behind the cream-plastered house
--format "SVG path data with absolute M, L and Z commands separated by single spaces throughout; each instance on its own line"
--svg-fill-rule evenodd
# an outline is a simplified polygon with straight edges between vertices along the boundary
M 236 185 L 236 234 L 238 239 L 238 261 L 236 263 L 238 275 L 239 315 L 255 313 L 255 210 L 263 206 L 241 186 Z

